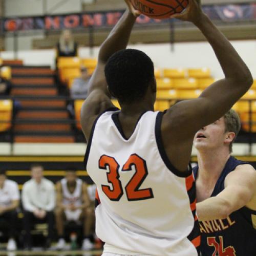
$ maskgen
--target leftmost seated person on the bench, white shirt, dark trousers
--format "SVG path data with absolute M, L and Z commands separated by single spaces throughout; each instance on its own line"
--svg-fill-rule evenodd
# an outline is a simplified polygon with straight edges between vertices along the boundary
M 5 170 L 0 171 L 0 221 L 9 225 L 7 250 L 16 250 L 15 231 L 17 224 L 17 208 L 19 206 L 19 190 L 15 181 L 8 180 Z

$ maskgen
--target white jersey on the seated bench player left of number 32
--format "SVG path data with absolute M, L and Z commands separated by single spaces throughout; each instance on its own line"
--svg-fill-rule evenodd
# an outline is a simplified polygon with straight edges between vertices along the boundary
M 63 204 L 74 204 L 75 206 L 82 205 L 82 180 L 76 179 L 76 188 L 71 194 L 68 189 L 67 179 L 63 178 L 61 181 Z

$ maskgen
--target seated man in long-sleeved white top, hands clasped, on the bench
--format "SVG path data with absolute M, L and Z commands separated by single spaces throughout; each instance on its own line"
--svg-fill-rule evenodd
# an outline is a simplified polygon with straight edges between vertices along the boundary
M 24 208 L 25 248 L 31 249 L 31 229 L 36 220 L 48 224 L 46 247 L 53 239 L 55 188 L 53 182 L 43 176 L 44 168 L 40 164 L 31 166 L 32 179 L 27 181 L 22 190 Z

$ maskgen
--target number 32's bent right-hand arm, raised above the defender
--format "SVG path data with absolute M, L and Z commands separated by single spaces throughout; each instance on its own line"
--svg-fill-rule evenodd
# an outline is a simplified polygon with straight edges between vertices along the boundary
M 201 30 L 225 75 L 224 79 L 204 90 L 199 98 L 179 102 L 163 116 L 161 130 L 165 151 L 173 165 L 184 171 L 195 133 L 221 118 L 250 88 L 252 77 L 227 38 L 202 12 L 200 0 L 190 0 L 187 10 L 173 17 L 190 21 Z

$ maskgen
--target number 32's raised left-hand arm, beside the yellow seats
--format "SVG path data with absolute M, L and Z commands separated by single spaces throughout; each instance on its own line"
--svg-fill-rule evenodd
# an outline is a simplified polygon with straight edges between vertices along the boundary
M 81 125 L 87 140 L 97 116 L 106 109 L 114 108 L 110 100 L 111 96 L 106 84 L 104 68 L 111 55 L 126 48 L 136 17 L 139 15 L 139 12 L 133 9 L 128 0 L 125 2 L 129 8 L 100 47 L 97 67 L 90 79 L 89 96 L 82 105 Z

